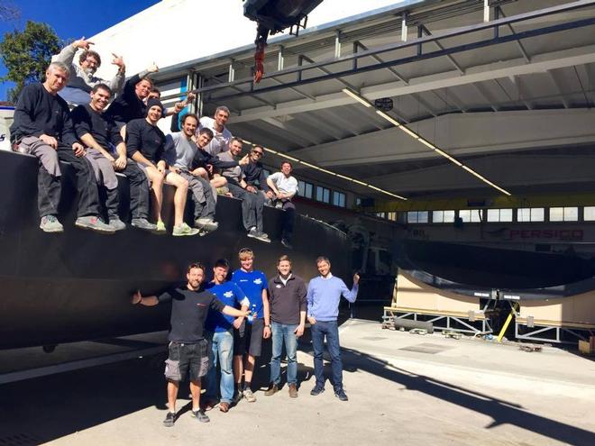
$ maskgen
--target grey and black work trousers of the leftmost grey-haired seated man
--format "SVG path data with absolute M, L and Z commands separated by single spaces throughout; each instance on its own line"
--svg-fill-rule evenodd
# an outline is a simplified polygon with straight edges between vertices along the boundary
M 19 151 L 30 153 L 39 159 L 37 174 L 37 202 L 40 216 L 57 215 L 62 190 L 62 173 L 59 161 L 68 162 L 75 169 L 78 190 L 78 217 L 99 214 L 99 194 L 93 168 L 85 157 L 76 157 L 71 147 L 58 143 L 58 149 L 41 141 L 36 136 L 25 136 L 19 143 Z

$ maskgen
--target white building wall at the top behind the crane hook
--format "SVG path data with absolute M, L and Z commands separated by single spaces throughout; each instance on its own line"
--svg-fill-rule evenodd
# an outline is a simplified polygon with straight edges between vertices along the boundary
M 309 15 L 307 28 L 404 3 L 417 2 L 325 0 Z M 126 74 L 132 76 L 152 62 L 165 68 L 207 58 L 251 45 L 255 37 L 256 23 L 243 16 L 240 0 L 161 0 L 89 40 L 104 59 L 98 75 L 111 77 L 113 52 L 124 56 Z

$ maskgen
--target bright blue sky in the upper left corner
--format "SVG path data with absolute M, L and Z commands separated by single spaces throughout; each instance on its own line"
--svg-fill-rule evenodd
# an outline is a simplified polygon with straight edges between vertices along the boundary
M 12 0 L 10 5 L 21 9 L 21 18 L 13 22 L 0 22 L 0 39 L 5 32 L 23 30 L 27 20 L 48 23 L 60 39 L 90 37 L 141 12 L 159 0 Z M 0 59 L 0 76 L 6 68 Z M 0 83 L 0 101 L 6 100 L 9 83 Z

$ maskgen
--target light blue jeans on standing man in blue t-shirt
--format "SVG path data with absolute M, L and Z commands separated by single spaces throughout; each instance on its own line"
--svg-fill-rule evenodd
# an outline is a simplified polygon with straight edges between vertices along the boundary
M 229 332 L 206 333 L 206 339 L 211 344 L 213 363 L 206 374 L 206 396 L 211 399 L 217 397 L 217 360 L 221 367 L 221 401 L 230 403 L 233 399 L 233 334 Z

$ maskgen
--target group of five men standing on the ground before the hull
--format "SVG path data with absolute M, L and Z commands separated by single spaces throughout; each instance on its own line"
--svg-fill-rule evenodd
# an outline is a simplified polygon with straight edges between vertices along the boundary
M 256 361 L 261 356 L 263 340 L 272 339 L 270 385 L 263 393 L 273 396 L 281 389 L 281 359 L 287 352 L 288 396 L 298 397 L 298 339 L 310 323 L 314 347 L 316 384 L 311 396 L 325 391 L 324 345 L 331 360 L 334 396 L 348 401 L 343 389 L 343 362 L 339 345 L 337 316 L 341 296 L 355 302 L 360 277 L 353 276 L 349 289 L 341 278 L 331 273 L 330 259 L 316 259 L 319 276 L 306 286 L 292 270 L 287 255 L 279 257 L 277 274 L 267 280 L 255 269 L 254 252 L 243 248 L 238 253 L 240 268 L 229 275 L 226 259 L 215 261 L 213 280 L 205 283 L 206 268 L 201 263 L 188 266 L 187 283 L 159 296 L 143 296 L 137 291 L 133 305 L 154 306 L 171 303 L 168 360 L 169 411 L 163 424 L 172 427 L 180 413 L 176 399 L 180 381 L 189 380 L 192 396 L 191 416 L 206 423 L 206 410 L 215 406 L 223 413 L 245 400 L 256 402 L 252 392 Z M 221 378 L 217 378 L 217 366 Z M 202 387 L 206 388 L 201 398 Z M 182 411 L 183 412 L 183 411 Z

